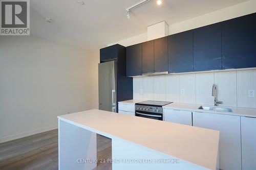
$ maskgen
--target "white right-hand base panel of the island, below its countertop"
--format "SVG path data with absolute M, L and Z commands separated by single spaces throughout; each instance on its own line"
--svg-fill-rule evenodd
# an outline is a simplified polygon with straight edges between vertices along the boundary
M 157 144 L 157 143 L 156 143 Z M 174 158 L 138 144 L 112 138 L 112 170 L 206 170 L 208 168 Z M 165 161 L 165 163 L 163 162 Z M 167 162 L 170 163 L 167 163 Z

